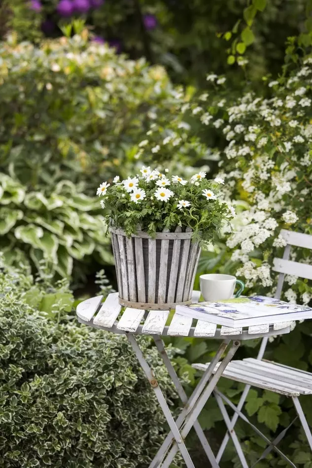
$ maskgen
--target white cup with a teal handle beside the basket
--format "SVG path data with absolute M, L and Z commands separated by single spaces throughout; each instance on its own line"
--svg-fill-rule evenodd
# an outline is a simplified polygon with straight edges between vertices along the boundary
M 235 297 L 239 297 L 245 287 L 243 281 L 230 274 L 202 274 L 199 277 L 201 293 L 205 301 L 222 301 L 231 299 L 236 284 L 241 287 Z

